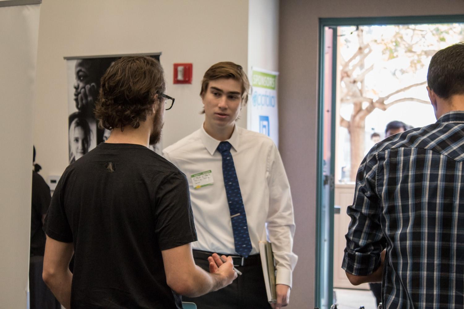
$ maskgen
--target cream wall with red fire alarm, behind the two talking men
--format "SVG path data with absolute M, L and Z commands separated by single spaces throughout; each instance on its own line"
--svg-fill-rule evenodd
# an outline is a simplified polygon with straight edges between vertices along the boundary
M 34 115 L 41 174 L 68 164 L 67 76 L 63 57 L 162 52 L 167 94 L 163 147 L 200 128 L 200 82 L 219 61 L 247 67 L 248 0 L 47 0 L 42 4 Z M 193 83 L 173 85 L 173 63 L 193 63 Z M 246 110 L 239 126 L 246 126 Z

